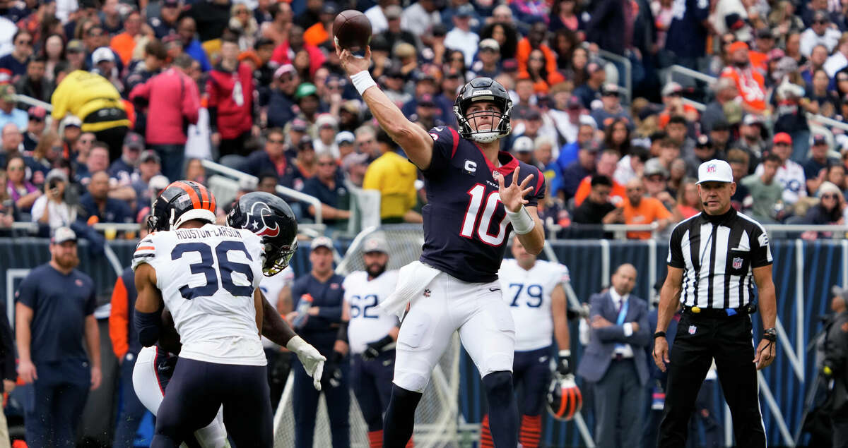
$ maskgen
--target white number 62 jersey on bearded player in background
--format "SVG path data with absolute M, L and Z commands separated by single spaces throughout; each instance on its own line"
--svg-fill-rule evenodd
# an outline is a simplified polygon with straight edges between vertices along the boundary
M 396 270 L 386 271 L 371 280 L 365 271 L 356 271 L 344 278 L 344 301 L 350 307 L 348 342 L 351 353 L 365 351 L 366 344 L 381 340 L 398 324 L 397 318 L 377 307 L 392 293 L 397 283 Z

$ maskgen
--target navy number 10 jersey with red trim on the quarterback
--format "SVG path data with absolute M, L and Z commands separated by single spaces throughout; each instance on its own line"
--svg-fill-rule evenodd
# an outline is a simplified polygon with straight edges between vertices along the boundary
M 509 152 L 498 155 L 495 168 L 473 141 L 460 138 L 455 130 L 437 127 L 432 136 L 432 162 L 423 171 L 427 189 L 424 216 L 424 248 L 421 263 L 427 263 L 466 282 L 498 279 L 512 224 L 500 202 L 495 171 L 511 185 L 516 167 L 521 183 L 533 175 L 528 207 L 544 197 L 544 176 L 536 167 L 522 163 Z

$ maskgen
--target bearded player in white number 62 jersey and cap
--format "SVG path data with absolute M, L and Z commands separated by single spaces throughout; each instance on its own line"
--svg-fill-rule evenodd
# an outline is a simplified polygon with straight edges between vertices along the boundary
M 382 414 L 392 395 L 394 346 L 398 339 L 396 316 L 384 312 L 377 304 L 386 300 L 398 283 L 398 271 L 387 271 L 388 243 L 374 235 L 362 249 L 364 271 L 356 271 L 344 279 L 340 339 L 350 346 L 350 386 L 360 404 L 368 425 L 371 448 L 382 447 Z

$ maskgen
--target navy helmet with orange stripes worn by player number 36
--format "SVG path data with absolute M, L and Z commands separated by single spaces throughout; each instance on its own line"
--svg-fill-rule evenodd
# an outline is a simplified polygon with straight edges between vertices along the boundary
M 192 219 L 214 223 L 216 207 L 215 196 L 204 185 L 193 180 L 177 180 L 153 202 L 148 230 L 175 230 Z

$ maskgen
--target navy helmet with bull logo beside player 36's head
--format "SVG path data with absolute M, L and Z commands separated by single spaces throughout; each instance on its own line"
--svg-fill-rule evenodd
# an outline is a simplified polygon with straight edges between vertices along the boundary
M 271 193 L 254 191 L 242 196 L 226 216 L 226 224 L 250 230 L 262 238 L 265 246 L 262 273 L 266 277 L 285 269 L 298 250 L 298 221 L 292 207 Z

